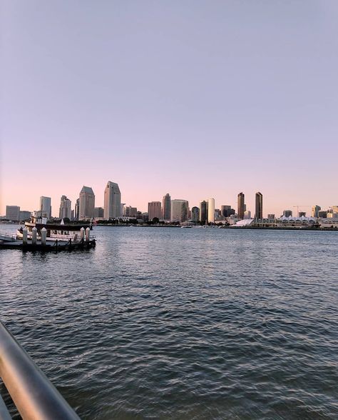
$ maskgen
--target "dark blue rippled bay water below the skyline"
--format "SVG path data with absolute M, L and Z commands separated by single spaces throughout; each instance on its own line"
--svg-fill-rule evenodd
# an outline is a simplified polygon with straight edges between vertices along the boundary
M 82 419 L 337 419 L 338 234 L 97 227 L 0 251 L 1 320 Z

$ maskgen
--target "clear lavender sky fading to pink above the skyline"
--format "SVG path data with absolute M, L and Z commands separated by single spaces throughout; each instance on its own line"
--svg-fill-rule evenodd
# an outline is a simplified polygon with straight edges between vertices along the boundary
M 2 0 L 0 214 L 338 204 L 337 0 Z M 294 209 L 295 210 L 295 209 Z

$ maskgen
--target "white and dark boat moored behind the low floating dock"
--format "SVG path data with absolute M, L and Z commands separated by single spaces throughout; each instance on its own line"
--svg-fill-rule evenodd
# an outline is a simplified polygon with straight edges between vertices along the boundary
M 37 229 L 37 239 L 41 240 L 41 229 L 45 228 L 47 231 L 46 241 L 81 241 L 84 237 L 86 229 L 92 229 L 91 224 L 65 224 L 63 219 L 60 224 L 47 223 L 46 217 L 31 216 L 30 221 L 25 221 L 24 227 L 16 230 L 16 238 L 24 238 L 24 229 L 27 229 L 27 239 L 32 238 L 33 228 Z M 83 228 L 83 234 L 81 229 Z M 90 240 L 94 239 L 94 236 L 90 235 Z

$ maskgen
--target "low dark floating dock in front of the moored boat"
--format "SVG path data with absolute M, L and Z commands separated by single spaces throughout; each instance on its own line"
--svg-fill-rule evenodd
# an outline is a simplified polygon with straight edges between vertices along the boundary
M 32 244 L 31 240 L 24 244 L 22 240 L 16 241 L 0 241 L 0 249 L 20 249 L 21 251 L 71 251 L 73 249 L 91 249 L 96 246 L 95 239 L 90 241 L 46 241 L 46 244 L 41 244 L 41 241 L 36 241 Z

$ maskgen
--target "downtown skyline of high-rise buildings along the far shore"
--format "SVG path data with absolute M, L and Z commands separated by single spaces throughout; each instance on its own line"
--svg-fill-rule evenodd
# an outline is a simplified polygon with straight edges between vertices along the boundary
M 121 202 L 121 190 L 117 183 L 108 181 L 103 191 L 103 207 L 95 206 L 96 196 L 90 186 L 83 186 L 75 205 L 72 209 L 71 199 L 66 195 L 61 196 L 58 207 L 58 217 L 54 219 L 68 220 L 106 220 L 120 219 L 128 221 L 130 219 L 138 222 L 164 222 L 170 224 L 181 224 L 191 222 L 192 224 L 215 224 L 227 223 L 235 224 L 237 221 L 261 221 L 272 222 L 277 220 L 275 214 L 267 214 L 263 218 L 263 196 L 261 192 L 255 194 L 255 213 L 252 214 L 245 204 L 245 194 L 240 192 L 237 195 L 237 209 L 224 204 L 215 208 L 215 199 L 204 199 L 200 201 L 199 206 L 193 206 L 190 209 L 189 201 L 185 199 L 171 199 L 170 194 L 165 194 L 162 201 L 148 202 L 148 212 L 141 212 L 134 206 L 126 206 Z M 305 211 L 299 211 L 297 214 L 290 209 L 283 211 L 280 219 L 293 221 L 306 217 Z M 34 215 L 52 219 L 51 197 L 41 196 L 39 209 L 34 211 Z M 24 221 L 31 217 L 31 211 L 22 211 L 19 206 L 6 206 L 6 216 L 2 219 L 11 221 Z M 338 221 L 338 206 L 332 206 L 327 211 L 322 211 L 318 205 L 311 207 L 311 217 L 314 219 L 332 219 Z M 304 220 L 304 219 L 303 219 Z

